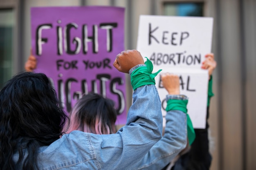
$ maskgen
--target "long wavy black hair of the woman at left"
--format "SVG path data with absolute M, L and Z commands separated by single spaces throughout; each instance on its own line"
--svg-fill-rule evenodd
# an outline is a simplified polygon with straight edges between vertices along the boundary
M 0 91 L 0 169 L 36 167 L 38 148 L 64 133 L 68 117 L 58 106 L 56 92 L 42 73 L 20 73 L 7 82 Z M 13 160 L 15 152 L 20 159 Z M 26 159 L 21 159 L 24 154 Z

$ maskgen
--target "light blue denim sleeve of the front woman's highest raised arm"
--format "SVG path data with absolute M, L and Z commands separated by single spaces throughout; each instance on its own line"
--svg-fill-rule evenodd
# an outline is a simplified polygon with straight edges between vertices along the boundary
M 116 134 L 90 134 L 101 169 L 128 169 L 162 137 L 161 101 L 155 85 L 137 88 L 132 97 L 126 126 Z

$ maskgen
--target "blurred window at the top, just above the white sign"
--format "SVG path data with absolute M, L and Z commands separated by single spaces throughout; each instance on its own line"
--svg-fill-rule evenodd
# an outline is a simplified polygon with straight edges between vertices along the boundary
M 203 16 L 203 3 L 164 3 L 164 15 L 171 16 Z

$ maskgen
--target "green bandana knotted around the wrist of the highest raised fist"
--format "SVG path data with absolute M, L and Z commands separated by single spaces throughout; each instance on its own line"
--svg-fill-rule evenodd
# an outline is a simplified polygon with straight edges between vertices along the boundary
M 159 70 L 157 73 L 152 73 L 153 71 L 153 64 L 148 58 L 146 57 L 147 61 L 145 62 L 146 66 L 141 66 L 136 68 L 131 73 L 131 84 L 133 90 L 137 89 L 140 86 L 148 85 L 148 84 L 155 84 L 155 76 L 162 71 Z

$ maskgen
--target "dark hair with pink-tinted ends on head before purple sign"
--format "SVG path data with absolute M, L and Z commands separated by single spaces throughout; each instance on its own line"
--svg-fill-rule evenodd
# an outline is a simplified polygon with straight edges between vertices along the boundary
M 83 95 L 70 113 L 68 132 L 80 130 L 99 135 L 116 133 L 117 110 L 114 105 L 114 101 L 96 93 Z

